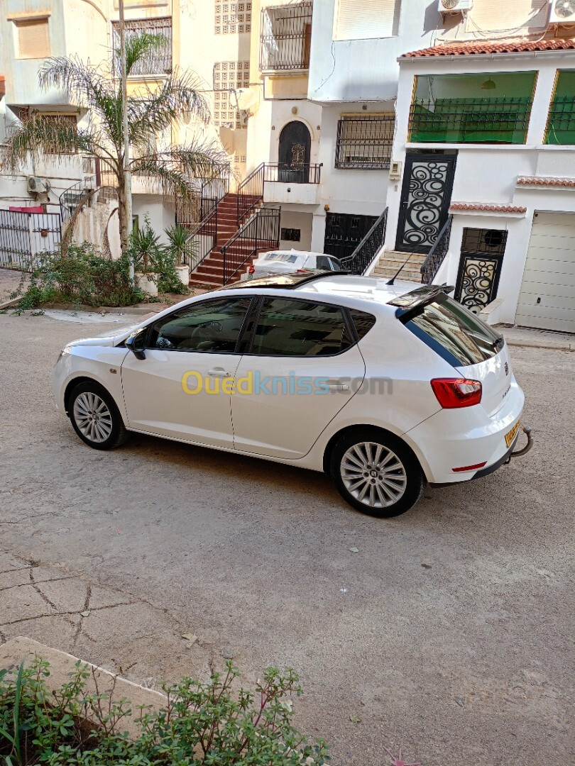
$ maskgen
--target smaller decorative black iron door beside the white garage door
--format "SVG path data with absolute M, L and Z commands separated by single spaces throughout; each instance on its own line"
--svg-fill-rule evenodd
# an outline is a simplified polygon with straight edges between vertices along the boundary
M 474 314 L 497 297 L 507 234 L 503 229 L 463 230 L 454 297 Z

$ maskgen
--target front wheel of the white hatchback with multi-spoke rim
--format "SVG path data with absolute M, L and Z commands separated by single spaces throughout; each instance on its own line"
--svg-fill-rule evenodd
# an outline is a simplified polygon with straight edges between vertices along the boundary
M 68 417 L 77 435 L 94 450 L 113 450 L 129 436 L 116 402 L 96 381 L 84 381 L 74 388 L 68 401 Z

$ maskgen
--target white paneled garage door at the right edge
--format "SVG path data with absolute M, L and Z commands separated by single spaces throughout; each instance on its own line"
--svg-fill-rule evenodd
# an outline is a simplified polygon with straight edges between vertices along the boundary
M 535 214 L 515 324 L 575 332 L 575 214 Z

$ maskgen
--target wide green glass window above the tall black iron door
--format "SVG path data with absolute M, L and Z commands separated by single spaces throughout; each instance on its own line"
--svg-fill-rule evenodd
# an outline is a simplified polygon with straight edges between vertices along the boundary
M 414 143 L 525 143 L 536 72 L 419 75 Z

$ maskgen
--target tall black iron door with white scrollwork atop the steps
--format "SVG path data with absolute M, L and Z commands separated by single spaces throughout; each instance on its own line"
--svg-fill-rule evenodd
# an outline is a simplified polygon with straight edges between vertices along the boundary
M 408 154 L 403 176 L 396 250 L 429 253 L 447 221 L 455 154 Z

